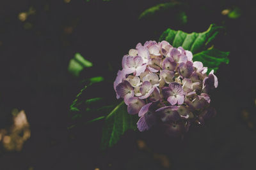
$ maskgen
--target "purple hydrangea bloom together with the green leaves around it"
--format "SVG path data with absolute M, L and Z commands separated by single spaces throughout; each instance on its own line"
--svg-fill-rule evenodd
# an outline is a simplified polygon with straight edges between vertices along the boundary
M 159 43 L 138 43 L 123 57 L 114 82 L 116 97 L 124 101 L 113 105 L 109 97 L 115 95 L 110 90 L 108 97 L 97 96 L 107 93 L 102 88 L 104 78 L 89 78 L 70 105 L 75 124 L 68 129 L 104 119 L 101 148 L 105 149 L 129 129 L 147 131 L 155 126 L 170 136 L 183 136 L 190 125 L 204 124 L 216 114 L 209 97 L 218 87 L 214 72 L 229 62 L 229 52 L 212 45 L 222 28 L 211 24 L 207 31 L 191 33 L 166 29 Z M 77 59 L 82 63 L 81 57 Z M 92 96 L 90 91 L 97 94 Z

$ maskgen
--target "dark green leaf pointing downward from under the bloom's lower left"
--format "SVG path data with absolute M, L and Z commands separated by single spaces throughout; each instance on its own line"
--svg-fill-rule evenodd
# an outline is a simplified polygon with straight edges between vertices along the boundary
M 138 121 L 137 115 L 130 115 L 127 113 L 127 107 L 124 101 L 109 113 L 105 118 L 105 124 L 102 131 L 101 148 L 109 148 L 115 145 L 120 136 L 128 129 L 137 129 L 136 122 Z

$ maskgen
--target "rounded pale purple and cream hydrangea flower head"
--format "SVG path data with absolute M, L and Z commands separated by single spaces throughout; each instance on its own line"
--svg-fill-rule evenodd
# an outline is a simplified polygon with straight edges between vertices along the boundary
M 124 55 L 122 67 L 114 82 L 116 97 L 124 99 L 129 114 L 138 114 L 140 131 L 159 125 L 176 136 L 216 114 L 208 94 L 218 87 L 217 77 L 213 70 L 207 76 L 207 67 L 193 62 L 193 54 L 181 46 L 138 43 Z

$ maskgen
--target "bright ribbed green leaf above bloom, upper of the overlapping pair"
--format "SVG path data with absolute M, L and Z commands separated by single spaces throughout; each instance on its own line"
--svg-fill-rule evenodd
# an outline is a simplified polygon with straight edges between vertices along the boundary
M 183 31 L 167 29 L 160 36 L 159 41 L 166 40 L 174 47 L 182 46 L 185 50 L 198 53 L 207 49 L 209 43 L 216 38 L 222 28 L 211 24 L 205 32 L 191 32 L 189 34 Z

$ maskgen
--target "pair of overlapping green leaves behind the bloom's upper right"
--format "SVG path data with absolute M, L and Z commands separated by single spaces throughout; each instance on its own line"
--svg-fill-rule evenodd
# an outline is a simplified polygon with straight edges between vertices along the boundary
M 212 40 L 216 38 L 223 27 L 211 24 L 205 32 L 192 32 L 190 34 L 183 31 L 167 29 L 163 32 L 159 41 L 166 40 L 172 46 L 182 46 L 185 50 L 193 53 L 193 60 L 200 61 L 208 67 L 208 73 L 214 69 L 216 71 L 222 62 L 228 64 L 229 52 L 221 52 L 215 48 L 208 48 Z

